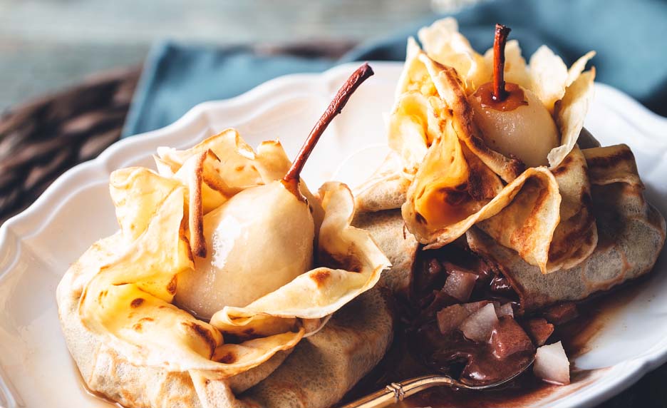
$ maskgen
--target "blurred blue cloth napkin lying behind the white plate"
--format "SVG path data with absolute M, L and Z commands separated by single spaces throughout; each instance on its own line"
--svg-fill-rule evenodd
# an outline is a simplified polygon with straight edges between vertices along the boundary
M 260 56 L 248 47 L 154 47 L 135 91 L 123 137 L 176 121 L 203 101 L 230 98 L 276 76 L 324 71 L 337 63 L 405 58 L 405 40 L 443 16 L 415 21 L 395 36 L 362 44 L 338 61 Z M 597 51 L 597 81 L 667 116 L 667 1 L 496 0 L 455 14 L 477 51 L 492 46 L 495 23 L 512 28 L 524 57 L 547 44 L 566 63 Z

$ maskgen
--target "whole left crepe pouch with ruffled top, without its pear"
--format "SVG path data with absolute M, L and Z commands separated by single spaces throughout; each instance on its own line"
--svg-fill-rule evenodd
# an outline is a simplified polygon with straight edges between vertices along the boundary
M 155 404 L 154 397 L 194 387 L 190 395 L 200 405 L 193 406 L 231 407 L 237 403 L 234 389 L 256 384 L 304 337 L 317 337 L 331 315 L 371 289 L 390 264 L 371 235 L 351 226 L 354 202 L 346 185 L 326 183 L 315 198 L 302 184 L 318 231 L 316 267 L 245 307 L 224 307 L 210 322 L 198 320 L 173 300 L 179 277 L 192 271 L 195 256 L 204 256 L 203 215 L 239 191 L 281 178 L 289 159 L 277 141 L 262 143 L 255 153 L 228 130 L 188 151 L 160 149 L 156 161 L 160 174 L 147 168 L 112 173 L 110 193 L 120 231 L 91 246 L 58 285 L 63 332 L 88 386 L 122 404 L 145 406 L 148 398 L 150 406 L 169 406 Z M 265 273 L 271 273 L 271 265 Z M 371 325 L 368 332 L 328 331 L 356 342 L 368 340 L 368 347 L 348 351 L 361 362 L 331 366 L 338 369 L 334 397 L 368 371 L 390 341 L 388 310 L 373 299 L 368 302 L 377 316 L 364 310 L 358 317 Z M 378 322 L 381 317 L 389 322 Z M 320 347 L 331 352 L 341 346 Z M 114 371 L 119 367 L 122 373 Z M 153 389 L 138 373 L 160 381 L 168 377 L 170 388 Z M 124 377 L 133 383 L 121 387 Z M 210 387 L 229 390 L 227 400 L 207 399 L 210 382 L 219 382 Z M 233 385 L 239 382 L 246 385 Z M 111 384 L 133 397 L 119 396 Z M 318 399 L 306 400 L 304 406 L 324 406 Z

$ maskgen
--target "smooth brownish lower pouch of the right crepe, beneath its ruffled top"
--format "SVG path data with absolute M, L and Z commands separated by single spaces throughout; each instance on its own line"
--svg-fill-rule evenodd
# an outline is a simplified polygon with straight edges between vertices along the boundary
M 524 310 L 581 300 L 650 271 L 665 243 L 663 216 L 646 202 L 634 156 L 625 145 L 583 150 L 591 175 L 598 231 L 594 251 L 576 266 L 542 275 L 539 268 L 487 235 L 467 231 L 475 253 L 492 260 L 511 282 Z

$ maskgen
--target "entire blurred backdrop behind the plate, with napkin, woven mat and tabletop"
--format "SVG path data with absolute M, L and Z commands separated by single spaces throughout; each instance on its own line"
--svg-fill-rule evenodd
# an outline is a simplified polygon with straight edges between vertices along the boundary
M 525 57 L 594 49 L 596 81 L 667 116 L 664 0 L 0 0 L 0 223 L 122 136 L 285 73 L 401 61 L 446 14 L 479 51 L 498 21 Z

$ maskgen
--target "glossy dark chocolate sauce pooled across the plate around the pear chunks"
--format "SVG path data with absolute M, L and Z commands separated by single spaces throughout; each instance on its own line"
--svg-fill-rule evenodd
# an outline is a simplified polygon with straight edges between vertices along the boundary
M 446 274 L 433 266 L 434 257 L 438 260 L 446 259 L 479 273 L 480 278 L 476 282 L 470 302 L 512 302 L 515 306 L 515 318 L 523 327 L 528 326 L 529 320 L 542 319 L 547 315 L 551 319 L 565 320 L 554 325 L 547 344 L 562 341 L 571 360 L 584 354 L 591 340 L 614 317 L 615 312 L 638 295 L 641 289 L 639 281 L 643 280 L 640 278 L 612 289 L 613 296 L 610 296 L 609 292 L 600 292 L 577 302 L 574 306 L 576 315 L 571 312 L 572 304 L 565 304 L 560 312 L 556 307 L 555 311 L 544 310 L 526 316 L 521 314 L 518 297 L 507 280 L 493 265 L 480 260 L 465 247 L 450 244 L 436 251 L 420 251 L 420 257 L 415 262 L 410 292 L 397 299 L 396 308 L 400 322 L 391 349 L 376 368 L 348 393 L 343 402 L 351 402 L 391 382 L 425 374 L 443 373 L 460 379 L 465 379 L 462 376 L 469 377 L 473 383 L 479 379 L 484 382 L 497 377 L 507 377 L 516 372 L 518 367 L 522 367 L 526 358 L 532 357 L 530 353 L 517 353 L 510 356 L 512 358 L 499 362 L 495 356 L 490 355 L 490 347 L 486 344 L 475 344 L 465 339 L 460 332 L 448 336 L 440 334 L 437 323 L 429 316 L 441 305 L 432 307 L 436 297 L 429 296 L 428 292 L 432 287 L 442 287 L 445 281 L 443 275 Z M 446 302 L 445 300 L 443 303 Z M 395 407 L 511 407 L 530 404 L 558 392 L 569 393 L 585 387 L 594 381 L 596 371 L 599 371 L 579 370 L 576 367 L 570 369 L 571 385 L 567 389 L 542 381 L 534 376 L 532 369 L 528 369 L 516 379 L 494 389 L 470 391 L 434 387 L 405 399 Z

